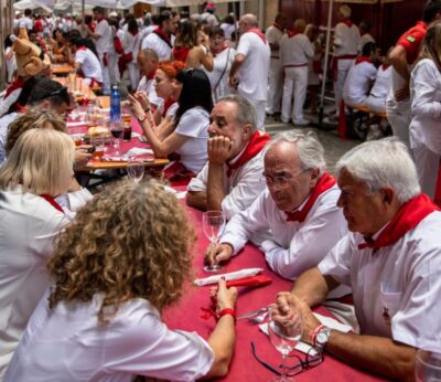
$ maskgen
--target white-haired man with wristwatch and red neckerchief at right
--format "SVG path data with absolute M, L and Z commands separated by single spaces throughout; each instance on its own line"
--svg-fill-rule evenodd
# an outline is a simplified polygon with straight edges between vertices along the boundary
M 278 295 L 279 314 L 297 306 L 304 341 L 387 379 L 413 380 L 417 348 L 440 351 L 441 213 L 395 138 L 355 147 L 336 174 L 351 233 Z M 311 312 L 342 284 L 352 287 L 359 335 L 326 328 Z

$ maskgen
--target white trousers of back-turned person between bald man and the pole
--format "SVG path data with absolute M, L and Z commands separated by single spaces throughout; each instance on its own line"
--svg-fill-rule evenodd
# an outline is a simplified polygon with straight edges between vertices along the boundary
M 308 66 L 286 67 L 282 98 L 282 121 L 300 123 L 303 120 L 303 104 L 306 97 L 308 88 Z M 292 107 L 292 95 L 294 96 L 294 106 Z

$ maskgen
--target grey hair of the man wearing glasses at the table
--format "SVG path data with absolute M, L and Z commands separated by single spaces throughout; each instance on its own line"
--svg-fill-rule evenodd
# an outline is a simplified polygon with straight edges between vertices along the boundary
M 320 176 L 326 169 L 324 160 L 324 149 L 314 131 L 304 131 L 301 129 L 292 129 L 277 134 L 267 145 L 267 152 L 279 142 L 295 144 L 299 153 L 300 166 L 302 170 L 311 170 L 318 168 Z

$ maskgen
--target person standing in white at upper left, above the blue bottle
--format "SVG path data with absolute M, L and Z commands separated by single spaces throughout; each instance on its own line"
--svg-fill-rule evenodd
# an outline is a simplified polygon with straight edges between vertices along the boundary
M 100 7 L 94 8 L 94 18 L 97 21 L 95 31 L 88 30 L 88 35 L 94 40 L 95 47 L 98 52 L 99 62 L 103 71 L 103 93 L 105 95 L 110 94 L 110 74 L 107 54 L 114 49 L 114 35 L 111 33 L 110 25 L 104 17 L 104 9 Z

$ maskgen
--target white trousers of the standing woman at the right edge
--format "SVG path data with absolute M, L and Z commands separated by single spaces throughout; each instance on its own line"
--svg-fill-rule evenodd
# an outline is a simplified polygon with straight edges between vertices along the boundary
M 432 200 L 437 190 L 438 168 L 440 156 L 430 150 L 426 145 L 418 144 L 412 148 L 415 163 L 417 166 L 418 180 L 421 191 L 427 193 Z

